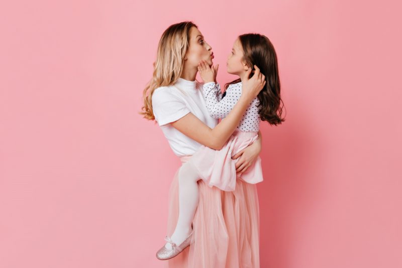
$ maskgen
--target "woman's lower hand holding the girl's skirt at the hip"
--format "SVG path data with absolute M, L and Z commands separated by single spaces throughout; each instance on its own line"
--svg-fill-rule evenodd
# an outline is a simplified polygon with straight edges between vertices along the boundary
M 238 176 L 241 176 L 242 173 L 246 172 L 247 169 L 254 163 L 257 159 L 258 155 L 261 152 L 262 148 L 262 139 L 261 139 L 261 132 L 258 131 L 258 139 L 251 145 L 244 148 L 242 151 L 237 153 L 232 157 L 232 159 L 239 160 L 236 162 L 236 173 Z

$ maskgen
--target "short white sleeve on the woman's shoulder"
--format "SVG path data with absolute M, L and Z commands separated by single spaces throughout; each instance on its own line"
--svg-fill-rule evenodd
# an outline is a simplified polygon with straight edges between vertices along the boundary
M 155 89 L 152 94 L 152 110 L 160 126 L 174 122 L 190 112 L 184 100 L 167 88 Z

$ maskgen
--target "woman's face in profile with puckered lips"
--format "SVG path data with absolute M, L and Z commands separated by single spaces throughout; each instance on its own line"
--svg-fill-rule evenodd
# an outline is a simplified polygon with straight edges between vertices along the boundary
M 204 36 L 196 27 L 190 29 L 190 41 L 185 58 L 187 58 L 185 64 L 190 68 L 196 69 L 202 60 L 212 66 L 212 59 L 214 58 L 212 47 L 205 42 Z

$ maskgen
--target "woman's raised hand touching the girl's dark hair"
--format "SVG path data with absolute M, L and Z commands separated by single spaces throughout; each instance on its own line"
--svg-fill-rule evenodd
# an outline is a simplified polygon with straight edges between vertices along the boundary
M 249 79 L 252 68 L 249 68 L 242 77 L 242 94 L 240 98 L 246 98 L 247 102 L 252 101 L 265 86 L 265 75 L 254 65 L 254 75 Z

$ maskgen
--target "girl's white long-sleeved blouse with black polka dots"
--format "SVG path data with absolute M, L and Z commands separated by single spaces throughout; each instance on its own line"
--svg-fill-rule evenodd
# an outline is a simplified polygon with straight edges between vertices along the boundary
M 210 115 L 214 118 L 225 118 L 242 94 L 242 82 L 229 85 L 224 94 L 219 83 L 209 82 L 204 84 L 203 93 Z M 259 130 L 261 119 L 258 114 L 258 104 L 258 97 L 255 97 L 237 126 L 239 130 L 245 132 Z

